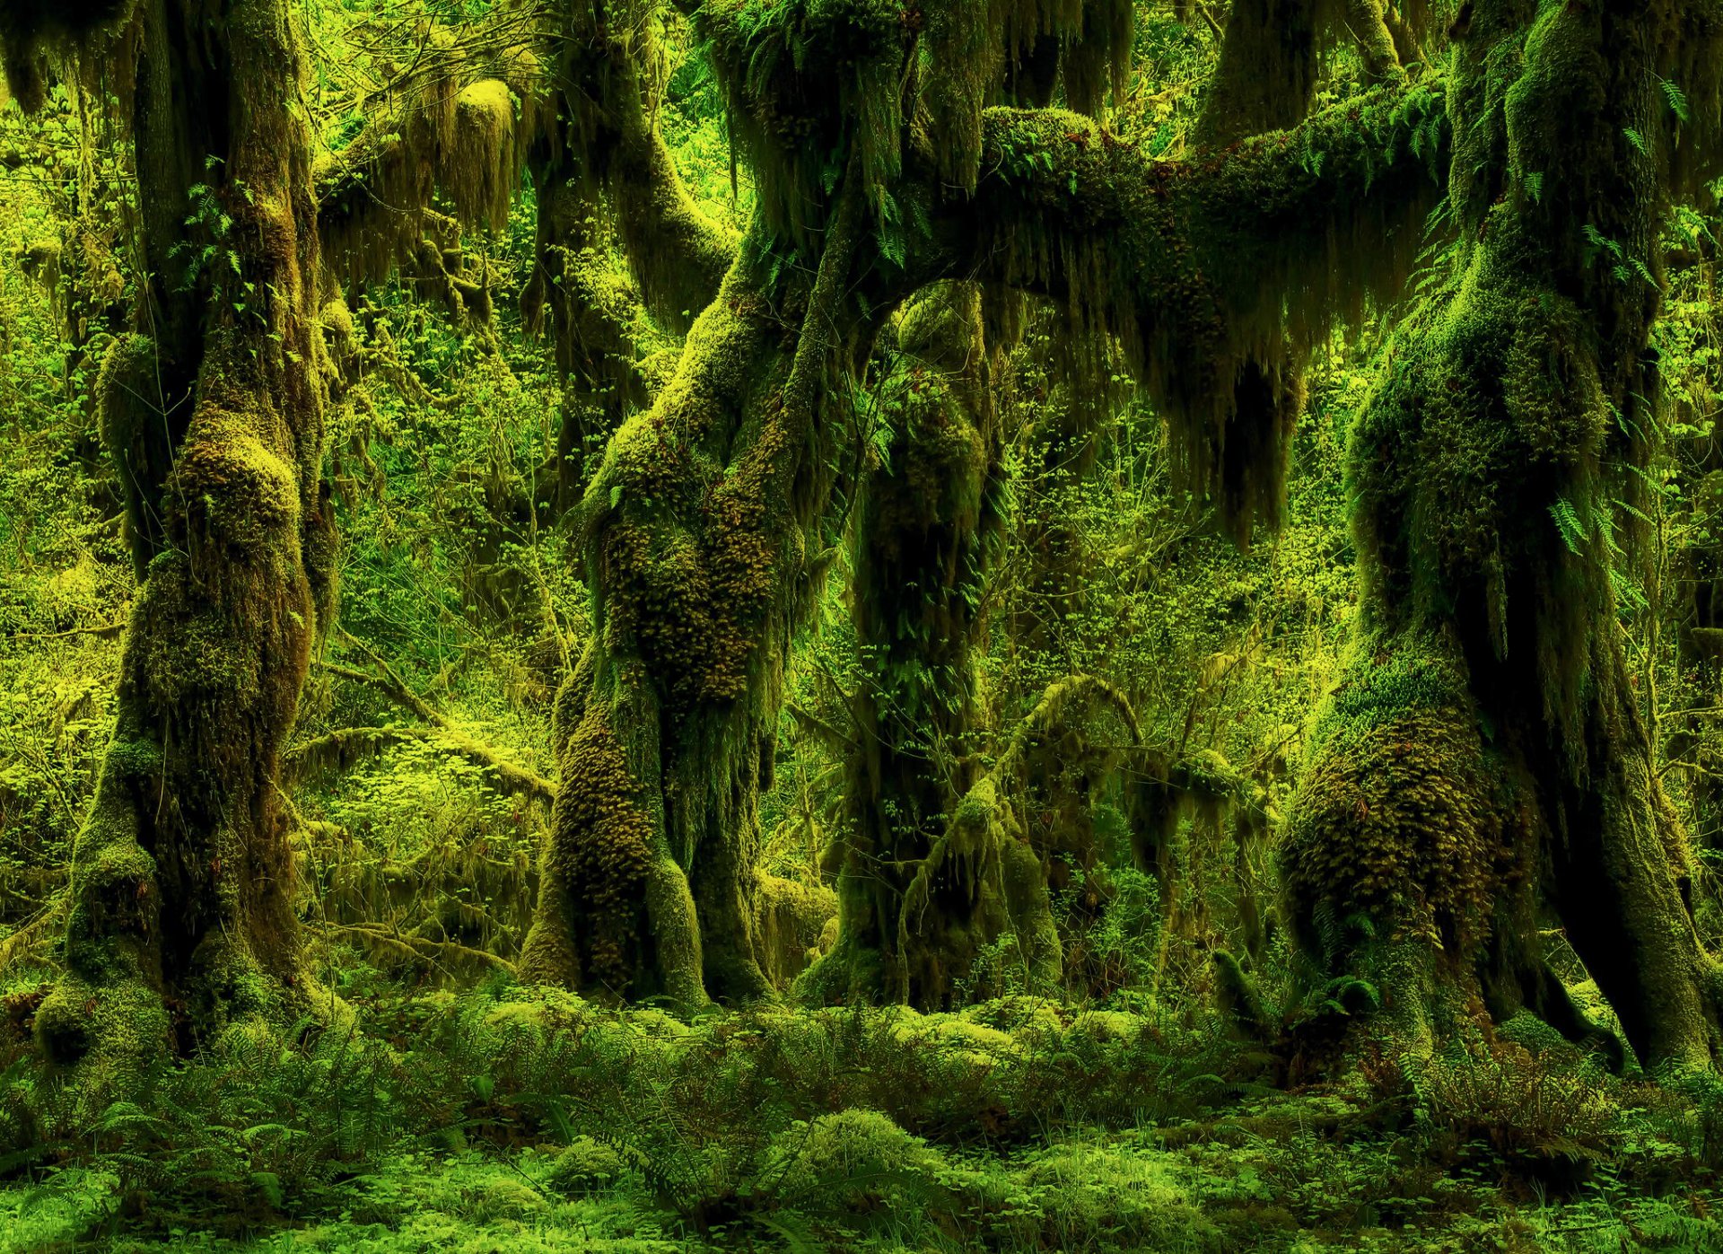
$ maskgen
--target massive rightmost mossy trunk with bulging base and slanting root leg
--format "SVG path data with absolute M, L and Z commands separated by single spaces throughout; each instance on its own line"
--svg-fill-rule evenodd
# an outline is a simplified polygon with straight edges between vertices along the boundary
M 1589 1030 L 1539 949 L 1552 908 L 1640 1059 L 1707 1066 L 1718 973 L 1613 579 L 1658 431 L 1676 141 L 1716 138 L 1716 16 L 1489 0 L 1456 40 L 1454 243 L 1353 432 L 1361 627 L 1282 853 L 1291 913 L 1418 1051 L 1473 997 Z

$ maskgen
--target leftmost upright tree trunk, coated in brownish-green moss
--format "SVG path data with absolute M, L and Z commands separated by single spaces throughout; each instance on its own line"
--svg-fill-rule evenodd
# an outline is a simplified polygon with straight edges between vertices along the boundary
M 53 1059 L 93 1056 L 115 1078 L 310 1004 L 276 763 L 333 572 L 298 16 L 283 0 L 121 9 L 78 36 L 121 79 L 138 50 L 153 282 L 102 403 L 143 580 L 64 972 L 36 1013 Z

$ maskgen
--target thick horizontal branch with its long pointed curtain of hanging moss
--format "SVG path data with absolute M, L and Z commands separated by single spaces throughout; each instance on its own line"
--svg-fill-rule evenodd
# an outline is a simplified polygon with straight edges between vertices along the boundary
M 1439 193 L 1440 96 L 1378 90 L 1189 164 L 1054 110 L 989 110 L 986 136 L 994 174 L 965 258 L 1061 298 L 1077 334 L 1117 336 L 1184 486 L 1241 536 L 1275 520 L 1296 362 L 1401 288 Z

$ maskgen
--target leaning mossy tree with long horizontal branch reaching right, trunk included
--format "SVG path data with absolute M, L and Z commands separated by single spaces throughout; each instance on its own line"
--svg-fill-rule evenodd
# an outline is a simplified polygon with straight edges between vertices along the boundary
M 967 5 L 917 21 L 706 5 L 694 22 L 758 217 L 677 377 L 586 494 L 598 636 L 560 703 L 563 785 L 527 946 L 541 977 L 682 1003 L 765 990 L 755 806 L 784 656 L 839 539 L 843 401 L 891 310 L 941 279 L 1056 295 L 1129 339 L 1191 448 L 1213 444 L 1242 360 L 1308 343 L 1404 272 L 1401 227 L 1442 143 L 1440 102 L 1399 84 L 1297 136 L 1166 167 L 1079 114 L 984 109 L 1041 31 L 1060 53 L 1042 81 L 1092 109 L 1129 48 L 1123 5 L 1003 22 Z

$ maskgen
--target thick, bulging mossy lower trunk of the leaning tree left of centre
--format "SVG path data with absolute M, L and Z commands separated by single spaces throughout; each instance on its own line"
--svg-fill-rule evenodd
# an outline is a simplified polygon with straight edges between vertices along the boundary
M 588 489 L 596 637 L 558 698 L 531 978 L 681 1004 L 770 992 L 751 937 L 756 804 L 818 577 L 817 408 L 849 362 L 849 336 L 825 329 L 858 326 L 855 217 L 832 222 L 812 284 L 737 262 Z M 822 331 L 789 331 L 803 320 Z

